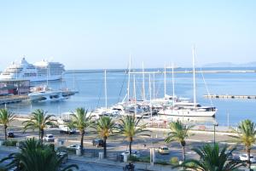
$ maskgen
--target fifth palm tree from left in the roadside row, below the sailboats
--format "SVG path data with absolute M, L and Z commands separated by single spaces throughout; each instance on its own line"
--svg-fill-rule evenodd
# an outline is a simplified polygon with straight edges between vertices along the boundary
M 142 117 L 137 119 L 135 115 L 126 115 L 125 117 L 120 119 L 119 124 L 119 133 L 123 134 L 127 140 L 129 141 L 129 151 L 130 151 L 130 157 L 131 157 L 131 144 L 133 141 L 133 138 L 137 134 L 142 134 L 143 132 L 146 132 L 146 124 L 138 125 Z M 149 136 L 148 134 L 144 134 L 146 136 Z

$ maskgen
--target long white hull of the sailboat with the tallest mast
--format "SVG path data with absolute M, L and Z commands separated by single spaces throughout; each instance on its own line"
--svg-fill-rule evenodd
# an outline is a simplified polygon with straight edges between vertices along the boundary
M 193 111 L 193 110 L 160 110 L 160 115 L 177 117 L 214 117 L 217 111 Z

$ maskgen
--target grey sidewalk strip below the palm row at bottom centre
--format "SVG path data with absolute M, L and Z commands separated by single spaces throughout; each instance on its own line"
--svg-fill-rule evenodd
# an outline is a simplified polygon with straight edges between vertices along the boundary
M 89 163 L 99 163 L 99 164 L 105 164 L 109 166 L 118 166 L 118 167 L 124 167 L 128 162 L 114 162 L 112 160 L 108 159 L 99 159 L 99 158 L 93 158 L 93 157 L 79 157 L 75 155 L 69 155 L 69 158 L 71 160 L 76 160 L 79 162 L 89 162 Z M 134 162 L 136 170 L 148 170 L 148 171 L 172 171 L 177 170 L 173 169 L 171 165 L 154 165 L 151 166 L 148 162 Z

